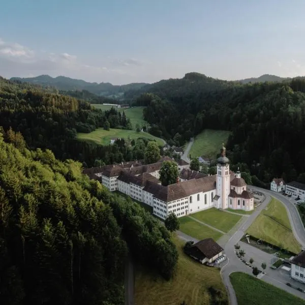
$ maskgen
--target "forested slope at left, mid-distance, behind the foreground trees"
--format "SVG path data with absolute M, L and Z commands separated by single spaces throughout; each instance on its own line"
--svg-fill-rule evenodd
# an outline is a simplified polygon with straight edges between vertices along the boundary
M 93 109 L 87 101 L 57 94 L 52 88 L 43 89 L 0 77 L 0 121 L 6 131 L 10 127 L 20 131 L 29 148 L 48 148 L 56 158 L 71 158 L 83 162 L 84 166 L 144 157 L 145 143 L 141 140 L 133 147 L 78 141 L 77 132 L 89 133 L 105 125 L 132 129 L 130 120 L 124 112 L 114 108 Z

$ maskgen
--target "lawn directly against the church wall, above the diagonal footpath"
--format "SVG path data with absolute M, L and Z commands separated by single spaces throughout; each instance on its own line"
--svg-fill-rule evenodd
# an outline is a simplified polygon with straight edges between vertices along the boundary
M 223 232 L 229 232 L 242 217 L 241 215 L 221 211 L 215 207 L 197 212 L 191 216 Z

